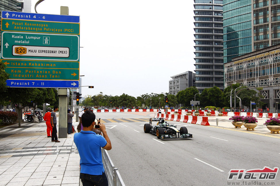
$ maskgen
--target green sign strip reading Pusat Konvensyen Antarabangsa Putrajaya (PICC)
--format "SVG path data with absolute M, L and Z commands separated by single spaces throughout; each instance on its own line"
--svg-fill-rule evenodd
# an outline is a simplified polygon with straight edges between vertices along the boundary
M 2 31 L 80 34 L 80 23 L 2 19 Z

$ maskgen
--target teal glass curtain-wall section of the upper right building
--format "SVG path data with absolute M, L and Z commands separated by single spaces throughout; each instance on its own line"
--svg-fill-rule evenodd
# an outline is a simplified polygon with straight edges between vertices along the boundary
M 251 0 L 223 1 L 224 63 L 252 52 Z

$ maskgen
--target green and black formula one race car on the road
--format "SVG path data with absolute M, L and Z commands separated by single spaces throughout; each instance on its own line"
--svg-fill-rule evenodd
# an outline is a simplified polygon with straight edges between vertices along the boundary
M 152 125 L 152 121 L 158 121 L 157 125 Z M 150 118 L 150 123 L 144 124 L 144 132 L 156 134 L 157 138 L 192 138 L 192 134 L 188 133 L 188 129 L 183 126 L 178 130 L 176 126 L 169 125 L 167 122 L 164 123 L 162 118 Z M 178 137 L 177 137 L 178 134 Z M 175 135 L 172 136 L 172 135 Z

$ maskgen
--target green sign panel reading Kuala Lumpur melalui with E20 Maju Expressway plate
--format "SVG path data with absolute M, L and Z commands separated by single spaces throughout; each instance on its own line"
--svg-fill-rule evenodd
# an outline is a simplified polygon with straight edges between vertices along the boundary
M 2 32 L 1 58 L 79 60 L 79 37 L 66 34 Z

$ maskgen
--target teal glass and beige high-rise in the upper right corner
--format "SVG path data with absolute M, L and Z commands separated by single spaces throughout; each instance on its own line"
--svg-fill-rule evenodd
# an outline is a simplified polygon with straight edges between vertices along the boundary
M 223 1 L 224 63 L 280 43 L 279 0 Z

